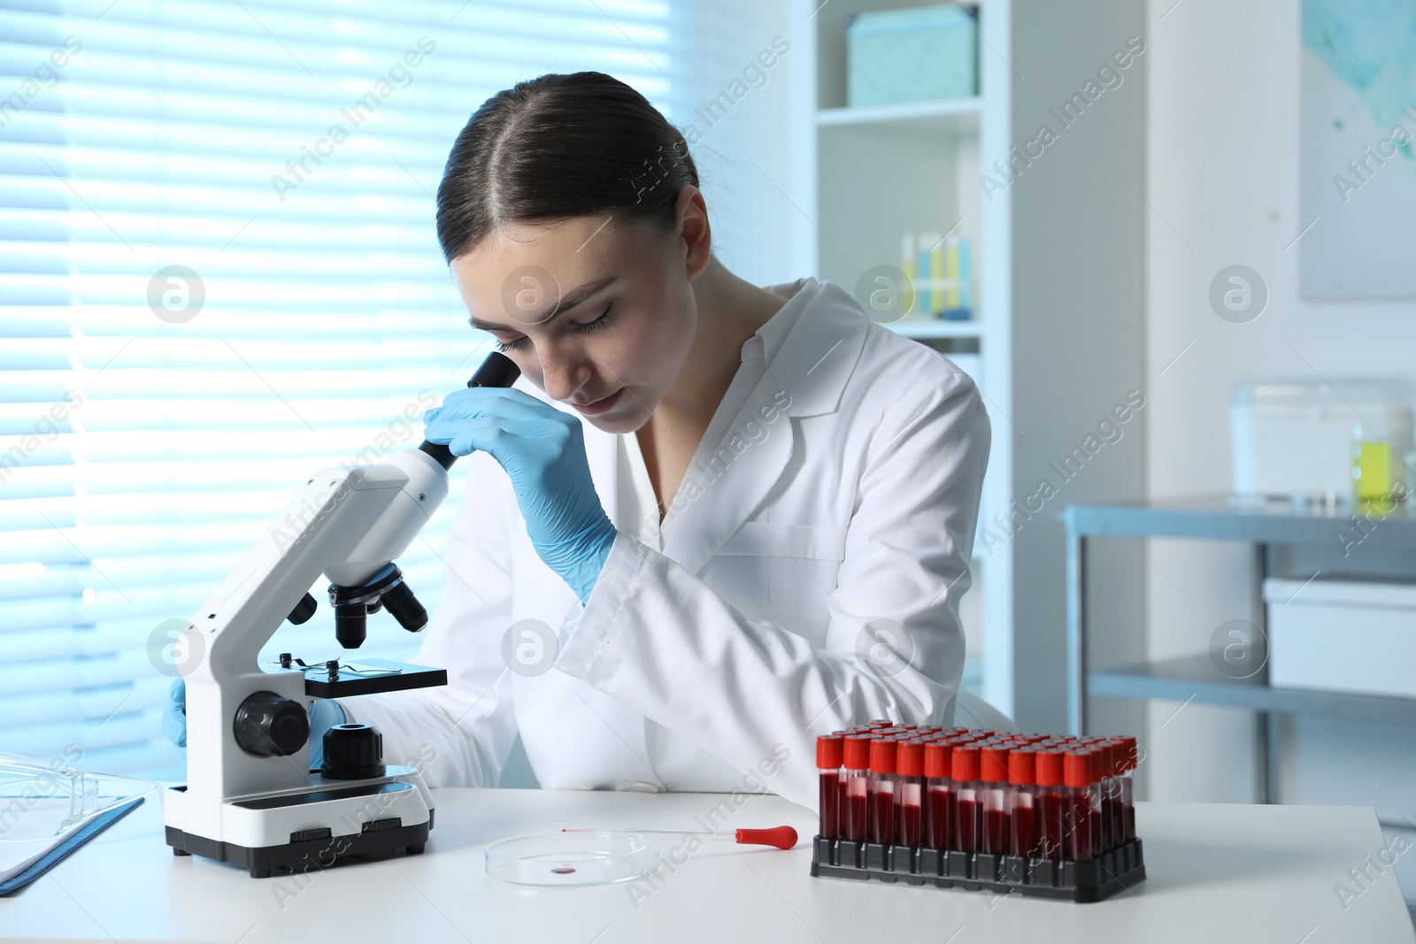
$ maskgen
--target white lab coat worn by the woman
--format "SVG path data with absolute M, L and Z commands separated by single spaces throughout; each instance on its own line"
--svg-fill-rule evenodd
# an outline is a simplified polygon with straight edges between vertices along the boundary
M 715 463 L 685 476 L 663 552 L 622 519 L 617 436 L 585 423 L 617 528 L 585 607 L 537 558 L 501 467 L 460 460 L 447 586 L 413 658 L 449 684 L 340 701 L 388 763 L 496 785 L 520 730 L 545 788 L 767 788 L 814 808 L 817 735 L 946 718 L 991 442 L 978 391 L 834 283 L 769 290 L 794 320 L 765 335 L 766 371 Z M 558 634 L 538 675 L 504 658 L 523 620 Z

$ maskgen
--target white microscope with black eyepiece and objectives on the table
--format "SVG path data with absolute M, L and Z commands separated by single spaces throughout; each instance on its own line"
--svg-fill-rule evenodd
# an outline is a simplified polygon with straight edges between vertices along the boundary
M 467 386 L 511 386 L 520 371 L 491 354 Z M 296 491 L 181 633 L 187 684 L 187 783 L 164 791 L 174 855 L 232 862 L 263 879 L 273 868 L 321 869 L 336 859 L 423 851 L 432 793 L 413 767 L 385 764 L 372 725 L 336 725 L 324 764 L 310 769 L 309 698 L 446 685 L 440 668 L 365 660 L 306 665 L 261 647 L 289 618 L 314 614 L 309 589 L 330 580 L 336 638 L 364 641 L 381 607 L 412 633 L 428 611 L 392 563 L 447 497 L 456 457 L 423 442 L 375 466 L 323 468 Z

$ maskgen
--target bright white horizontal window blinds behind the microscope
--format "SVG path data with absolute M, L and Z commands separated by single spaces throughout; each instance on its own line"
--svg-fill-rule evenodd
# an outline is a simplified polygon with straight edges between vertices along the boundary
M 163 624 L 487 350 L 433 232 L 457 130 L 578 69 L 683 126 L 691 31 L 640 0 L 0 7 L 0 750 L 180 780 Z M 453 476 L 399 560 L 429 610 Z M 337 654 L 313 593 L 263 655 Z M 379 613 L 361 654 L 416 643 Z

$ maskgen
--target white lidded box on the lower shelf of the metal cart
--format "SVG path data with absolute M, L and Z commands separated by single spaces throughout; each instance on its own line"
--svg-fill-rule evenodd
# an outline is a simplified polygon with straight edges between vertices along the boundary
M 1269 684 L 1416 698 L 1416 583 L 1263 582 Z

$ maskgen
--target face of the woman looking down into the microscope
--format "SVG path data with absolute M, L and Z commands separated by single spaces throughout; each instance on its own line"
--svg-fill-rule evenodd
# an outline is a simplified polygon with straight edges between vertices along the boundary
M 473 326 L 547 395 L 596 427 L 643 426 L 698 324 L 687 243 L 646 224 L 507 224 L 453 259 Z

